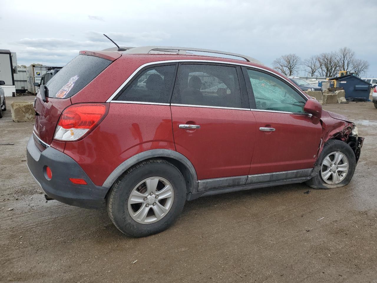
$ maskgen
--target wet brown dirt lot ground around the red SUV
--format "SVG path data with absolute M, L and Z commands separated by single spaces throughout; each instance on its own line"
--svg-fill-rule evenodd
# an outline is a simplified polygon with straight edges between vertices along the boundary
M 32 123 L 12 122 L 11 101 L 0 119 L 0 143 L 14 143 L 0 145 L 1 282 L 377 282 L 371 102 L 324 106 L 354 120 L 365 137 L 348 186 L 199 198 L 167 231 L 128 238 L 104 209 L 45 201 L 26 168 Z

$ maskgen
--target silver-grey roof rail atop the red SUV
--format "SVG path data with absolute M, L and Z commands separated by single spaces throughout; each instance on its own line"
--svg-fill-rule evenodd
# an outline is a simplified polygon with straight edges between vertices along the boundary
M 198 51 L 198 52 L 208 52 L 208 53 L 216 53 L 216 54 L 224 54 L 224 55 L 230 55 L 235 57 L 241 57 L 244 58 L 247 62 L 257 63 L 260 65 L 264 65 L 261 61 L 254 59 L 252 57 L 242 55 L 242 54 L 236 54 L 231 52 L 224 52 L 224 51 L 218 51 L 218 50 L 211 50 L 211 49 L 201 49 L 201 48 L 187 48 L 187 47 L 173 47 L 173 46 L 140 46 L 140 47 L 134 47 L 134 48 L 127 48 L 126 51 L 123 51 L 122 53 L 126 54 L 148 54 L 150 51 L 164 51 L 164 52 L 174 52 L 178 54 L 186 54 L 186 51 Z

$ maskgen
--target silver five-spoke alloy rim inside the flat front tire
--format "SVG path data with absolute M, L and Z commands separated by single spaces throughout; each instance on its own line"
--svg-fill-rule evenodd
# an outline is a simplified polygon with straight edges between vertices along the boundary
M 322 161 L 321 177 L 329 185 L 343 181 L 348 173 L 348 159 L 342 152 L 331 152 Z

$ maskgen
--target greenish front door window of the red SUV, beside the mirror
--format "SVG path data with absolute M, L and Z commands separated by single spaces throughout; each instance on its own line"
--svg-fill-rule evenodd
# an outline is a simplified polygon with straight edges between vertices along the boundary
M 306 100 L 278 78 L 264 72 L 247 70 L 256 109 L 304 113 Z

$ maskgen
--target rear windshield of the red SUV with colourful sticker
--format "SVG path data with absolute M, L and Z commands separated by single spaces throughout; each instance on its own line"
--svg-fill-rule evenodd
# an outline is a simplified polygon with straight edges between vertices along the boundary
M 46 84 L 48 97 L 71 97 L 97 77 L 111 62 L 95 56 L 78 55 Z

